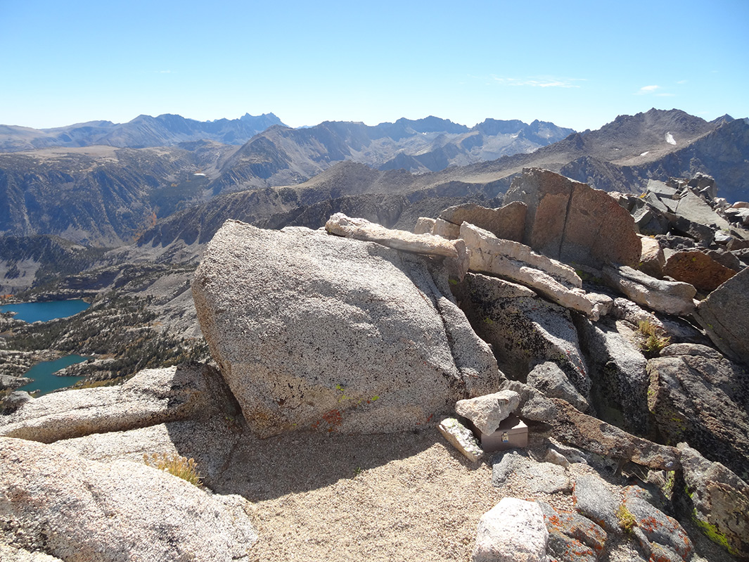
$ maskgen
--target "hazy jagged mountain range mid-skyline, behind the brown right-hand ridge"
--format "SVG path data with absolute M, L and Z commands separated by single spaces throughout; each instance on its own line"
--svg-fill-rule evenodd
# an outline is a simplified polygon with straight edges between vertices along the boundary
M 270 127 L 243 145 L 220 170 L 214 193 L 298 184 L 341 160 L 380 170 L 437 172 L 449 166 L 533 152 L 574 133 L 554 123 L 487 119 L 468 128 L 447 119 L 398 119 L 369 127 L 325 121 L 315 127 Z

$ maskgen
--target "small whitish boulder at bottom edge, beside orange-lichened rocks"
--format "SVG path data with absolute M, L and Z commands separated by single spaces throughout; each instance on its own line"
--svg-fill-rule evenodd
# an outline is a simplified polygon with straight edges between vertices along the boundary
M 479 520 L 473 562 L 545 562 L 549 534 L 538 504 L 503 498 Z

